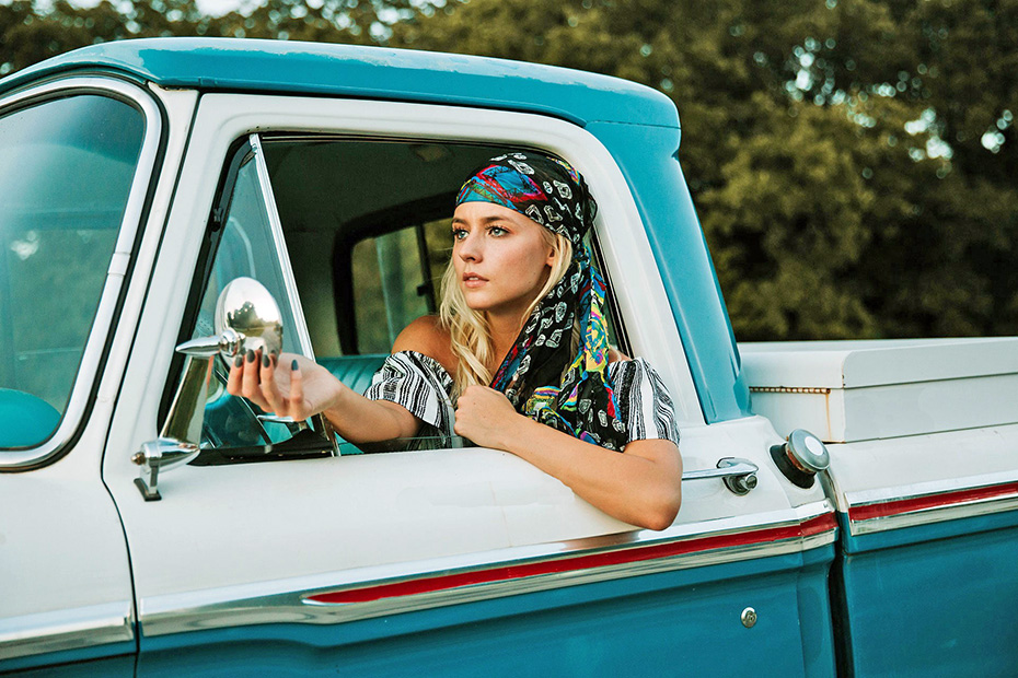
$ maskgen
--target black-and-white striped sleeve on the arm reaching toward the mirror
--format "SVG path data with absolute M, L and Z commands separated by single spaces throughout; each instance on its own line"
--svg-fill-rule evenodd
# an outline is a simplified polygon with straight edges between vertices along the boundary
M 400 351 L 386 358 L 374 373 L 365 397 L 402 405 L 439 434 L 451 435 L 451 390 L 452 377 L 437 360 L 416 351 Z

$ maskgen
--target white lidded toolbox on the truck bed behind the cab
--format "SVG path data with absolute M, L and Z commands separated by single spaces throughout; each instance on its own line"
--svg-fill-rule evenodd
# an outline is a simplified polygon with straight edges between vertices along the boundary
M 1018 338 L 739 344 L 753 410 L 834 443 L 1018 423 Z

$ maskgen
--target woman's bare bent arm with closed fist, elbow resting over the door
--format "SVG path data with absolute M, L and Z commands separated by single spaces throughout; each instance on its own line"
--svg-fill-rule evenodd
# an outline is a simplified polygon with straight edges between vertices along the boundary
M 471 386 L 460 396 L 455 432 L 527 459 L 632 525 L 664 529 L 679 513 L 682 458 L 671 441 L 633 441 L 620 454 L 537 423 L 484 386 Z

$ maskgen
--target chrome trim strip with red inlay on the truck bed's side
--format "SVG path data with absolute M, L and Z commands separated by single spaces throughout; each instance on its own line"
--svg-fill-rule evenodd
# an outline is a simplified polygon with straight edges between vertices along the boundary
M 1018 510 L 1018 472 L 846 492 L 852 536 Z

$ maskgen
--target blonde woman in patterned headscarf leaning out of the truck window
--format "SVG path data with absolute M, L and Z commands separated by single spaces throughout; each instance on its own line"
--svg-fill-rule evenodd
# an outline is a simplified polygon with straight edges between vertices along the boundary
M 228 390 L 293 419 L 324 412 L 354 443 L 452 430 L 663 529 L 681 501 L 678 430 L 657 373 L 609 349 L 604 283 L 583 243 L 595 211 L 567 163 L 493 157 L 456 198 L 440 316 L 400 334 L 365 396 L 310 360 L 251 352 Z

